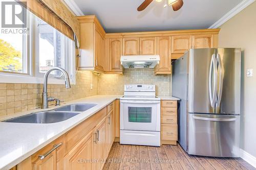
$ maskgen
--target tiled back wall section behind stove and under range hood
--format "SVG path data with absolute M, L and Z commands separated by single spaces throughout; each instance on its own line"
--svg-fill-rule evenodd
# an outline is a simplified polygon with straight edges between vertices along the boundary
M 172 77 L 154 74 L 154 69 L 124 69 L 123 75 L 98 77 L 98 94 L 123 94 L 124 84 L 155 84 L 157 95 L 171 95 Z

